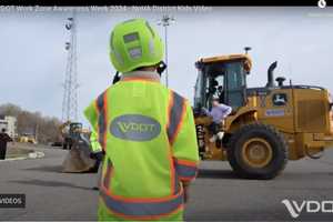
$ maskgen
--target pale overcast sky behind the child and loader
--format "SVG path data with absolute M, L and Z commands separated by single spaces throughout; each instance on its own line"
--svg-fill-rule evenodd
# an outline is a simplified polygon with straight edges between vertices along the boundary
M 152 9 L 152 8 L 151 8 Z M 250 87 L 266 82 L 266 69 L 278 60 L 276 75 L 293 83 L 333 91 L 333 8 L 204 8 L 137 11 L 81 11 L 78 20 L 79 117 L 111 82 L 108 54 L 112 27 L 131 18 L 153 26 L 168 11 L 176 22 L 169 33 L 169 87 L 193 101 L 194 62 L 201 57 L 243 52 L 252 47 Z M 68 11 L 0 12 L 1 103 L 61 118 L 69 40 Z M 164 34 L 162 27 L 155 26 Z

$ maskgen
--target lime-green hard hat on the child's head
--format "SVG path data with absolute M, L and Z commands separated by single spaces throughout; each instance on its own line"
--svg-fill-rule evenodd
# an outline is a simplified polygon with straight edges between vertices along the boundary
M 110 58 L 119 72 L 158 64 L 164 53 L 159 33 L 144 19 L 131 19 L 114 27 Z

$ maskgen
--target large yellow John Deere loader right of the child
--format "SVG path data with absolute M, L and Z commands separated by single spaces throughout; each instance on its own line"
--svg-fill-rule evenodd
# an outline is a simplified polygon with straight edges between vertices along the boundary
M 194 115 L 202 159 L 228 160 L 242 178 L 273 179 L 287 160 L 317 159 L 333 145 L 329 91 L 285 82 L 283 77 L 274 81 L 276 65 L 270 65 L 265 85 L 248 88 L 252 67 L 248 53 L 195 62 Z M 210 142 L 212 120 L 201 110 L 212 108 L 213 97 L 233 112 L 220 125 L 223 139 Z

